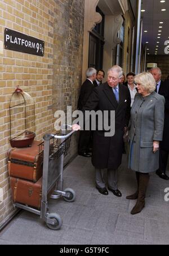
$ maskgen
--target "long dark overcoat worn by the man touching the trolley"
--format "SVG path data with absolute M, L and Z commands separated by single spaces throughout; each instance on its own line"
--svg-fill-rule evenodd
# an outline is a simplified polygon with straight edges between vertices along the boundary
M 115 99 L 113 89 L 108 83 L 98 86 L 92 92 L 84 110 L 107 110 L 110 125 L 110 112 L 115 111 L 115 135 L 105 136 L 105 130 L 94 131 L 94 147 L 92 164 L 98 169 L 117 169 L 122 162 L 124 127 L 130 120 L 130 91 L 119 85 L 119 103 Z M 104 115 L 104 113 L 103 113 Z

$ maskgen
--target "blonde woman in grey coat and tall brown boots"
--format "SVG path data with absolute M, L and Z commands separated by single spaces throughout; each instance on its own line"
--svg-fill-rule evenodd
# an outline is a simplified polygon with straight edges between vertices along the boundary
M 163 139 L 164 97 L 155 91 L 155 80 L 150 73 L 135 76 L 138 92 L 131 109 L 129 167 L 136 172 L 138 189 L 127 199 L 137 199 L 132 215 L 145 207 L 149 173 L 159 168 L 159 142 Z

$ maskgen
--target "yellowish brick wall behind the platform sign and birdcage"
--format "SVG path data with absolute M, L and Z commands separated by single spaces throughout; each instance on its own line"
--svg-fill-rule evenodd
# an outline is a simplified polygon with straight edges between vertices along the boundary
M 13 213 L 6 152 L 10 145 L 9 100 L 16 86 L 35 101 L 37 139 L 54 131 L 54 113 L 77 106 L 82 76 L 84 0 L 0 0 L 0 43 L 5 28 L 45 41 L 45 56 L 0 51 L 0 226 Z M 77 137 L 71 153 L 77 149 Z

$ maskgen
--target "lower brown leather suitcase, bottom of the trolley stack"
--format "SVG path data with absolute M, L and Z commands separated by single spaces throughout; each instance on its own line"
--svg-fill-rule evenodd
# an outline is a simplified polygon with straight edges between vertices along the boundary
M 42 178 L 36 183 L 10 177 L 14 203 L 26 204 L 41 209 Z

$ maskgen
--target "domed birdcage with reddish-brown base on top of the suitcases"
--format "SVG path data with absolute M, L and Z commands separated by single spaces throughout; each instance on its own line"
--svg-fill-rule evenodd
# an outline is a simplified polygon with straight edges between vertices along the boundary
M 11 147 L 30 147 L 35 138 L 35 104 L 32 97 L 16 88 L 10 100 Z

